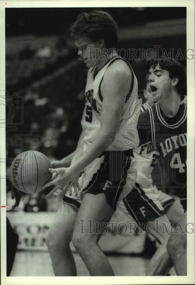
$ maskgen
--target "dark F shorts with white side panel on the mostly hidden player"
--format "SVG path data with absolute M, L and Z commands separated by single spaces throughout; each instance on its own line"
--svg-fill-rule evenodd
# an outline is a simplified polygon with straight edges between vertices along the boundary
M 131 215 L 137 223 L 147 223 L 165 214 L 165 208 L 175 202 L 175 199 L 158 190 L 156 187 L 144 190 L 135 183 L 132 191 L 118 203 L 120 210 Z

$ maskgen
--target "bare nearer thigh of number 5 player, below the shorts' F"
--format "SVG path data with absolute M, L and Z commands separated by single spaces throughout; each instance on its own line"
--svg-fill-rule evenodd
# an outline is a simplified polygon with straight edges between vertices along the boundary
M 102 233 L 102 227 L 104 226 L 105 229 L 112 215 L 113 209 L 103 193 L 97 195 L 85 193 L 75 221 L 73 244 L 83 239 L 86 241 L 93 239 L 97 242 Z

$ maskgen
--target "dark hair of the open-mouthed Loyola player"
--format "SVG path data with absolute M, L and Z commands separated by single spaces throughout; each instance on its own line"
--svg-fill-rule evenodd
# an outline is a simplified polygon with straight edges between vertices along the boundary
M 169 77 L 177 77 L 178 83 L 176 89 L 178 93 L 182 94 L 184 89 L 184 83 L 186 80 L 183 66 L 177 60 L 173 59 L 153 59 L 147 63 L 148 69 L 159 66 L 163 70 L 169 71 Z

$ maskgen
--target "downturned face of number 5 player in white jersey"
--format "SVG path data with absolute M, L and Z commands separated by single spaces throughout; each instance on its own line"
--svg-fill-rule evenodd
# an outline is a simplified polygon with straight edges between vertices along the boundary
M 80 38 L 75 41 L 75 45 L 78 46 L 79 49 L 79 59 L 83 60 L 88 68 L 97 66 L 99 64 L 99 42 L 92 42 L 92 40 L 89 38 Z

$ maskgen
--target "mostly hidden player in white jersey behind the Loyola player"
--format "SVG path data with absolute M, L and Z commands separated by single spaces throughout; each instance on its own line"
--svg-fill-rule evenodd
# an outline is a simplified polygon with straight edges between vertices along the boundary
M 141 112 L 155 104 L 148 80 L 144 96 Z M 185 104 L 185 101 L 181 101 L 181 104 Z M 172 263 L 166 250 L 170 233 L 163 233 L 161 225 L 162 223 L 166 224 L 167 228 L 171 228 L 170 222 L 175 226 L 178 225 L 183 209 L 178 201 L 165 193 L 165 189 L 159 181 L 161 170 L 157 162 L 160 153 L 152 141 L 144 143 L 134 150 L 134 157 L 137 160 L 136 184 L 124 198 L 124 203 L 118 203 L 117 210 L 122 211 L 130 219 L 134 219 L 144 229 L 147 225 L 147 230 L 159 243 L 157 251 L 149 262 L 147 275 L 164 275 Z M 144 161 L 145 158 L 147 161 Z M 158 190 L 156 185 L 163 191 Z M 148 222 L 149 224 L 147 224 Z

